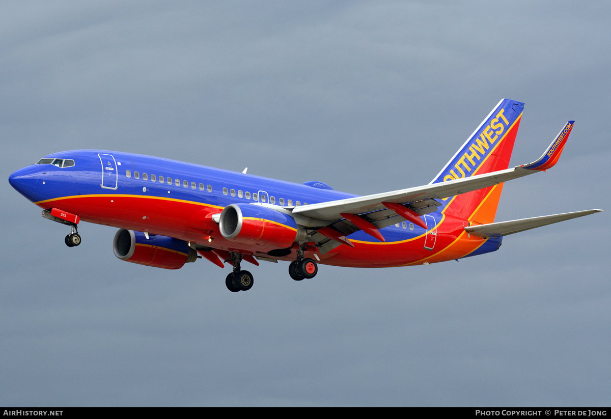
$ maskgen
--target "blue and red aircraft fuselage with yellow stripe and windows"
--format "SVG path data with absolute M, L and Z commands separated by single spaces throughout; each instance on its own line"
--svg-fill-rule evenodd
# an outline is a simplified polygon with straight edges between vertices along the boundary
M 45 159 L 70 160 L 74 165 L 34 164 L 10 177 L 13 187 L 40 208 L 60 208 L 95 224 L 276 260 L 295 260 L 296 249 L 277 255 L 265 246 L 227 240 L 219 234 L 218 219 L 213 215 L 232 203 L 290 214 L 296 205 L 357 196 L 327 189 L 322 183 L 296 184 L 115 151 L 64 151 Z M 356 231 L 349 235 L 354 247 L 338 246 L 324 254 L 309 249 L 305 255 L 323 264 L 378 268 L 453 260 L 500 246 L 500 238 L 470 236 L 464 231 L 469 224 L 466 220 L 441 211 L 423 217 L 427 230 L 395 218 L 396 223 L 379 230 L 385 242 Z

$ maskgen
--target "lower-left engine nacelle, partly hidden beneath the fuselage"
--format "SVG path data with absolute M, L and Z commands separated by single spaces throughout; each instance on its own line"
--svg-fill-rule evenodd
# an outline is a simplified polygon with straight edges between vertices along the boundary
M 112 250 L 120 260 L 155 268 L 180 269 L 197 260 L 197 252 L 186 241 L 120 229 L 112 241 Z

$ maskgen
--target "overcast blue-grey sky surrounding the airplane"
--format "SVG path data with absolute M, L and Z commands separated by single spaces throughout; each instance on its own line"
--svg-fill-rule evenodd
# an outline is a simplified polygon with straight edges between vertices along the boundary
M 428 183 L 503 97 L 497 220 L 611 208 L 606 2 L 0 4 L 2 406 L 609 406 L 608 213 L 396 269 L 114 257 L 10 188 L 55 151 L 130 151 L 356 194 Z

